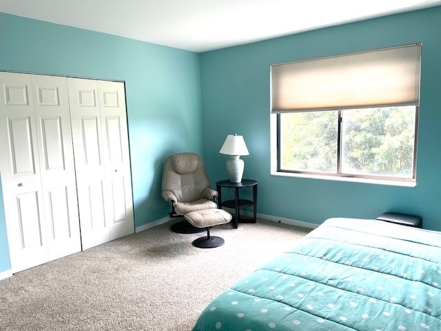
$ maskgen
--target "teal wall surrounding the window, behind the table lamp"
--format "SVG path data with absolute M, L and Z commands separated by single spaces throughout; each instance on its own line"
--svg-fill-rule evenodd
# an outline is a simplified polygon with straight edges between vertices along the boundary
M 245 178 L 258 180 L 258 212 L 321 223 L 375 218 L 389 210 L 419 214 L 441 230 L 441 7 L 323 28 L 201 54 L 204 157 L 212 181 L 225 179 L 218 154 L 227 134 L 243 134 Z M 269 66 L 422 42 L 416 188 L 270 174 Z

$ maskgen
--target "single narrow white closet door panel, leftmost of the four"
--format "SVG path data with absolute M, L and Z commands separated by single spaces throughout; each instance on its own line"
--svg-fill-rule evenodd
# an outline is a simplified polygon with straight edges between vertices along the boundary
M 13 272 L 48 261 L 29 74 L 0 72 L 0 165 Z

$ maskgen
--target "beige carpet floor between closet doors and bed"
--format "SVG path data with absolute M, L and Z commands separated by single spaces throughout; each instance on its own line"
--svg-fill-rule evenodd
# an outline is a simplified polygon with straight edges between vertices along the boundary
M 0 281 L 0 330 L 191 330 L 220 292 L 310 230 L 258 220 L 212 228 L 219 248 L 170 223 Z

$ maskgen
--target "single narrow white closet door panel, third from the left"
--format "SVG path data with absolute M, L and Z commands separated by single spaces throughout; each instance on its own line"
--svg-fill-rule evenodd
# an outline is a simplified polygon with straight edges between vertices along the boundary
M 83 250 L 110 241 L 98 86 L 68 78 Z

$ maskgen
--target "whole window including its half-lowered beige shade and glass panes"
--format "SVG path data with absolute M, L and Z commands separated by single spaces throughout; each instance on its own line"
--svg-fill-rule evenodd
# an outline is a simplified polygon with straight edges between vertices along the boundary
M 271 66 L 276 171 L 415 181 L 420 49 Z

